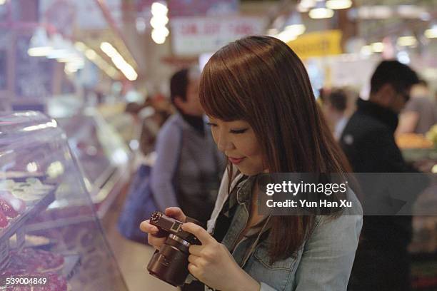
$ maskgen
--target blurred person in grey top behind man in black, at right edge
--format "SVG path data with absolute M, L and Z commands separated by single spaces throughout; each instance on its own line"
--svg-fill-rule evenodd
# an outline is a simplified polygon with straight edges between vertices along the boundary
M 411 99 L 399 117 L 396 134 L 425 134 L 437 123 L 437 104 L 433 100 L 428 83 L 421 80 L 411 88 Z

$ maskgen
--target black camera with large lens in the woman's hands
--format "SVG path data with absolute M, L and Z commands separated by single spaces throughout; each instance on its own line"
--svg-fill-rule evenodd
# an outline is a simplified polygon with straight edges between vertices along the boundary
M 196 223 L 192 219 L 191 222 Z M 163 280 L 175 287 L 184 285 L 189 275 L 188 257 L 190 245 L 201 245 L 196 236 L 182 230 L 179 220 L 155 211 L 150 218 L 150 224 L 158 228 L 155 236 L 167 237 L 160 250 L 156 250 L 152 256 L 147 270 L 149 274 Z M 197 224 L 199 224 L 197 222 Z

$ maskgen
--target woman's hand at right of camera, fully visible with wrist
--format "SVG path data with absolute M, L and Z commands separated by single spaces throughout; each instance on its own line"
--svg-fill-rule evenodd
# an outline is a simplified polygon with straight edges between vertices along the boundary
M 191 245 L 189 271 L 194 277 L 218 290 L 259 290 L 259 283 L 241 269 L 228 249 L 194 223 L 182 229 L 196 235 L 202 245 Z

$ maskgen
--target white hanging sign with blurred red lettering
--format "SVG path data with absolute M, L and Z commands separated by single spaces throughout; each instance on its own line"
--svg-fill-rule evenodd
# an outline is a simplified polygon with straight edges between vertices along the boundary
M 217 51 L 243 36 L 263 34 L 265 24 L 260 17 L 177 17 L 171 19 L 173 51 L 179 56 Z

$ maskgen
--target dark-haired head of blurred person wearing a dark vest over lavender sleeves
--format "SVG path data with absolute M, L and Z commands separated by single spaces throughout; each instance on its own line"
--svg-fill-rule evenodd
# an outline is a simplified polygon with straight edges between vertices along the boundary
M 204 110 L 199 102 L 199 73 L 183 68 L 170 79 L 171 102 L 181 113 L 202 116 Z

